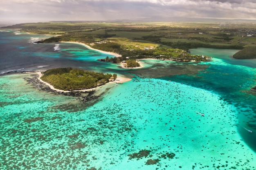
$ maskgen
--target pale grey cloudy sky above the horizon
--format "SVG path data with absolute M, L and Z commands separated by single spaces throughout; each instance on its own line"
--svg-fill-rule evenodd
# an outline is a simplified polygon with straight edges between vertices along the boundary
M 256 19 L 256 0 L 0 0 L 0 22 L 150 17 Z

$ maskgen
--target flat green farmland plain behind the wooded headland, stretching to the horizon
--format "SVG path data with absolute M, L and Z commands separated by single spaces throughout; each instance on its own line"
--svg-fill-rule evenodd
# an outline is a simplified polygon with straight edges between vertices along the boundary
M 117 42 L 126 49 L 154 48 L 165 46 L 190 48 L 207 45 L 239 48 L 256 46 L 255 23 L 200 23 L 200 22 L 42 22 L 17 24 L 30 33 L 52 35 L 76 35 L 77 41 L 91 43 L 97 41 Z M 90 41 L 89 41 L 90 39 Z M 73 38 L 72 40 L 76 40 Z M 194 47 L 193 46 L 193 47 Z

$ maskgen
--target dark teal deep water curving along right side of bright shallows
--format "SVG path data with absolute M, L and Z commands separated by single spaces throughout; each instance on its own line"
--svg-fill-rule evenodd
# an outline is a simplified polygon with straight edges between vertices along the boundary
M 209 70 L 211 70 L 211 68 L 209 68 Z M 247 145 L 256 152 L 256 112 L 254 111 L 256 110 L 256 104 L 255 102 L 252 102 L 255 101 L 256 93 L 250 91 L 248 86 L 243 86 L 243 82 L 248 82 L 246 76 L 239 75 L 236 77 L 230 75 L 229 78 L 231 78 L 231 80 L 227 76 L 223 76 L 222 79 L 218 75 L 214 76 L 214 74 L 218 73 L 213 73 L 211 71 L 208 73 L 207 70 L 207 73 L 200 73 L 197 75 L 175 75 L 162 77 L 162 79 L 212 91 L 213 93 L 220 95 L 223 101 L 236 106 L 236 111 L 238 113 L 238 132 Z M 242 84 L 242 86 L 239 84 Z M 254 84 L 253 79 L 251 80 L 251 84 Z M 246 126 L 253 132 L 248 132 L 243 127 L 240 127 L 241 125 Z

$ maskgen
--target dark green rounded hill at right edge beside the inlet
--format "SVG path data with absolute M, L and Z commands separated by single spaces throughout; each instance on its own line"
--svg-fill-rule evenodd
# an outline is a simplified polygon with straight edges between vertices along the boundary
M 233 55 L 237 59 L 253 59 L 256 58 L 256 46 L 246 47 Z

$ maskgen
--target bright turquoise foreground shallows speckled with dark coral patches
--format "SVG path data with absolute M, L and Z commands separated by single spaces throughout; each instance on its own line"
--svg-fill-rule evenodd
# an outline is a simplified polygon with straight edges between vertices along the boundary
M 31 88 L 27 76 L 1 77 L 5 169 L 254 169 L 256 155 L 237 131 L 236 108 L 214 93 L 137 78 L 76 110 L 76 99 Z M 150 156 L 129 159 L 140 150 Z M 164 159 L 166 153 L 175 157 Z M 145 165 L 148 159 L 159 162 Z

